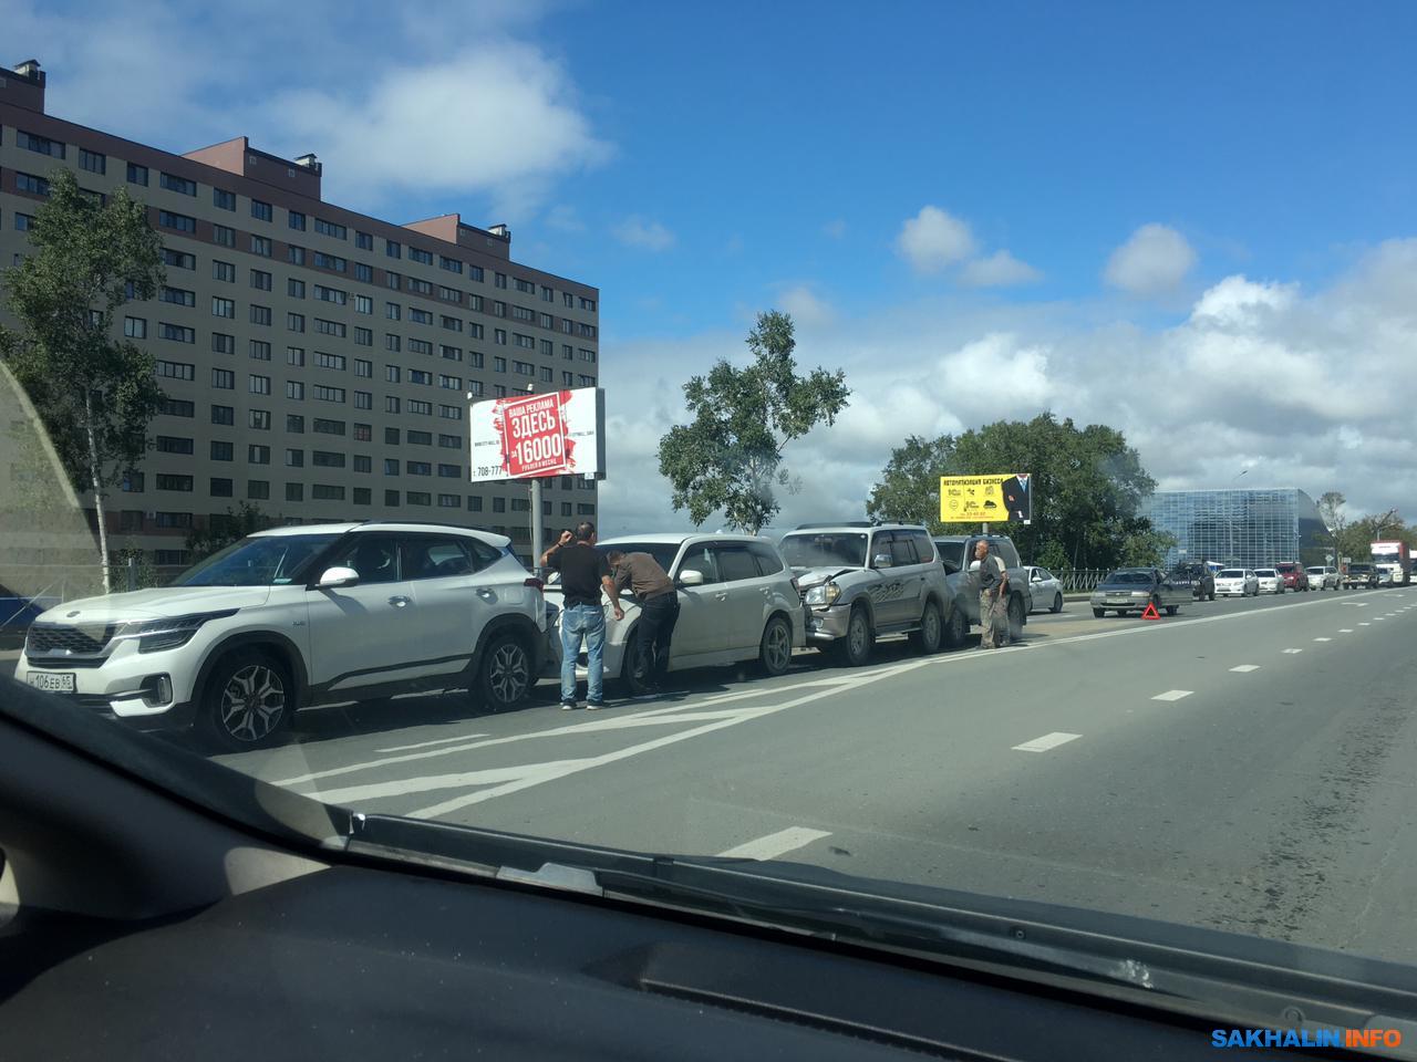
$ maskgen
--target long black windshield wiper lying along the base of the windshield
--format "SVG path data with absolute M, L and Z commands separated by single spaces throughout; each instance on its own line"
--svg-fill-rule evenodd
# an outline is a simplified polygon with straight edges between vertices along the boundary
M 884 882 L 867 892 L 866 882 L 799 864 L 625 852 L 384 816 L 356 814 L 349 848 L 720 915 L 1236 1027 L 1417 1020 L 1417 976 L 1407 967 L 1107 912 Z

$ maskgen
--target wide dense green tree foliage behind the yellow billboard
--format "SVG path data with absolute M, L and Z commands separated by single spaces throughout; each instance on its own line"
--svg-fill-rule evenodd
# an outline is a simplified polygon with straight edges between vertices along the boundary
M 1020 554 L 1037 564 L 1158 564 L 1175 545 L 1138 515 L 1156 483 L 1125 436 L 1107 425 L 1078 428 L 1053 413 L 998 421 L 958 436 L 905 439 L 891 450 L 866 511 L 880 520 L 924 523 L 937 534 L 966 530 L 939 521 L 939 477 L 995 472 L 1032 476 L 1033 523 L 1006 530 Z

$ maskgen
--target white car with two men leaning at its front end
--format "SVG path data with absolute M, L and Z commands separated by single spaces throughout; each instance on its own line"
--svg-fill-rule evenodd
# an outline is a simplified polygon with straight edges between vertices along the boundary
M 679 622 L 669 646 L 669 670 L 716 667 L 755 660 L 762 671 L 778 675 L 792 663 L 792 650 L 806 644 L 802 596 L 782 554 L 767 538 L 754 535 L 652 534 L 602 538 L 602 554 L 649 554 L 674 581 Z M 546 674 L 560 674 L 560 581 L 546 586 L 550 617 L 550 654 Z M 606 615 L 605 677 L 621 678 L 629 692 L 640 692 L 635 675 L 633 636 L 639 606 L 626 590 L 621 596 L 623 620 Z M 548 613 L 553 609 L 547 609 Z M 585 650 L 577 666 L 585 677 Z

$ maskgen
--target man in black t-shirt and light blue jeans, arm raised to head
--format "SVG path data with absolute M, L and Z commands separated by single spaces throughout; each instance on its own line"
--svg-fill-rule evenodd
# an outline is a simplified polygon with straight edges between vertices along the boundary
M 611 566 L 595 548 L 595 524 L 577 525 L 575 534 L 561 532 L 561 539 L 541 554 L 541 564 L 561 573 L 561 708 L 575 708 L 575 661 L 585 640 L 585 707 L 605 707 L 605 607 L 601 592 L 609 595 L 615 619 L 625 619 Z

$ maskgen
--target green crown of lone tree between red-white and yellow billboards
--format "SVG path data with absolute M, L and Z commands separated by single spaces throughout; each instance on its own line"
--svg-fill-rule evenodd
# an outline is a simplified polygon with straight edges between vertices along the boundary
M 761 531 L 781 508 L 777 489 L 794 489 L 782 447 L 846 408 L 846 374 L 816 368 L 801 377 L 795 348 L 792 319 L 768 310 L 748 333 L 751 364 L 720 360 L 684 384 L 693 419 L 659 440 L 659 470 L 674 508 L 687 508 L 696 525 L 723 510 L 733 527 Z

